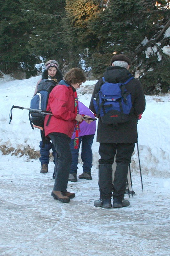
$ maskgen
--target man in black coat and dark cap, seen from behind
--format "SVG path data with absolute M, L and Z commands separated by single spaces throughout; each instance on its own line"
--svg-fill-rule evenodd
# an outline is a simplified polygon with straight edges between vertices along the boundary
M 125 82 L 129 78 L 130 59 L 123 55 L 114 55 L 111 59 L 111 66 L 104 73 L 105 80 L 109 83 Z M 90 102 L 90 110 L 96 114 L 93 98 L 100 91 L 103 84 L 102 78 L 96 83 Z M 132 79 L 126 85 L 127 92 L 131 94 L 132 108 L 130 120 L 121 124 L 104 124 L 99 116 L 97 129 L 97 142 L 99 147 L 99 190 L 100 199 L 94 202 L 94 206 L 111 208 L 112 197 L 112 164 L 116 162 L 114 178 L 113 207 L 121 208 L 128 206 L 129 201 L 124 199 L 128 167 L 137 142 L 137 121 L 139 115 L 145 110 L 145 97 L 142 85 L 137 79 Z

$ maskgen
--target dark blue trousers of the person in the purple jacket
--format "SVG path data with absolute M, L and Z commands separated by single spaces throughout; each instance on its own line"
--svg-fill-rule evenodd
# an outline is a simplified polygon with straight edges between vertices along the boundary
M 70 142 L 71 154 L 72 154 L 72 163 L 70 173 L 77 173 L 78 170 L 78 152 L 81 144 L 81 159 L 83 162 L 83 172 L 90 172 L 92 168 L 92 143 L 94 139 L 94 134 L 84 135 L 78 138 L 79 145 L 78 149 L 74 148 L 74 139 Z

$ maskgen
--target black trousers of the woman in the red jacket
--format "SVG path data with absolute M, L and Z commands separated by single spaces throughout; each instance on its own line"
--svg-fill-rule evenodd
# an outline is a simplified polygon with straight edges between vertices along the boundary
M 56 134 L 48 135 L 56 150 L 55 182 L 53 190 L 66 192 L 71 168 L 70 138 Z

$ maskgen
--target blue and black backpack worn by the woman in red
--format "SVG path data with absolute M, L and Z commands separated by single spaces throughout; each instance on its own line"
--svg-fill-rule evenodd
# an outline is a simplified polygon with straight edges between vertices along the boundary
M 41 82 L 38 84 L 38 87 L 37 87 L 37 93 L 31 99 L 30 108 L 46 110 L 49 93 L 52 91 L 55 85 L 57 85 L 57 82 L 55 82 L 54 80 L 48 80 L 48 79 L 41 80 Z M 29 112 L 29 119 L 31 124 L 33 123 L 36 126 L 43 127 L 44 118 L 45 118 L 45 114 L 31 112 L 31 110 Z M 33 125 L 31 126 L 33 128 Z

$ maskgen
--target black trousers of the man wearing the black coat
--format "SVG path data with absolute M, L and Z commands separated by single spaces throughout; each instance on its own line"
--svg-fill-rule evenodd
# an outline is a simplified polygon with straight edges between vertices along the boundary
M 135 143 L 100 143 L 99 147 L 99 190 L 101 199 L 113 197 L 123 199 L 128 174 L 128 166 Z M 116 162 L 115 179 L 112 184 L 112 164 Z

